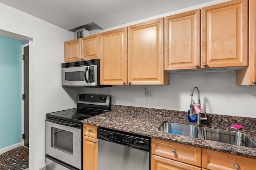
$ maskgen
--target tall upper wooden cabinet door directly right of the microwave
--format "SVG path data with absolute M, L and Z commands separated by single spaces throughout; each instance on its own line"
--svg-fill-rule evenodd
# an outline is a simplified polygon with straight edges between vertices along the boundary
M 100 84 L 127 84 L 127 27 L 100 34 Z

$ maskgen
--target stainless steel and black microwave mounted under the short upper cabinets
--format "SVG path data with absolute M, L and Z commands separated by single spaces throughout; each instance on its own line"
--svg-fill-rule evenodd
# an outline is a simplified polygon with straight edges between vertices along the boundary
M 100 85 L 100 59 L 61 64 L 62 86 L 110 87 Z

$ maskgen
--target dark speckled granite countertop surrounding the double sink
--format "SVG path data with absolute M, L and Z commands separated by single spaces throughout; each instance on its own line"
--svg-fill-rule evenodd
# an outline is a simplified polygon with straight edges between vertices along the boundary
M 236 155 L 246 156 L 249 158 L 256 159 L 256 148 L 241 147 L 237 145 L 220 143 L 216 141 L 187 137 L 183 135 L 175 135 L 171 133 L 164 133 L 158 130 L 158 127 L 160 127 L 160 125 L 164 121 L 172 122 L 172 123 L 197 125 L 196 123 L 190 123 L 186 119 L 187 112 L 182 113 L 182 111 L 169 111 L 169 110 L 166 111 L 166 110 L 152 109 L 151 113 L 153 114 L 148 114 L 148 108 L 146 108 L 147 114 L 144 114 L 144 112 L 141 111 L 142 108 L 140 107 L 139 107 L 140 109 L 134 109 L 135 107 L 134 108 L 132 107 L 132 109 L 127 109 L 127 108 L 123 109 L 122 107 L 123 106 L 120 106 L 120 107 L 114 106 L 114 109 L 112 107 L 112 111 L 109 111 L 88 119 L 84 119 L 81 122 L 87 123 L 90 125 L 96 125 L 99 127 L 105 127 L 109 129 L 118 130 L 118 131 L 134 133 L 138 135 L 153 137 L 157 139 L 163 139 L 167 141 L 173 141 L 173 142 L 182 143 L 186 145 L 192 145 L 196 147 L 202 147 L 205 149 L 212 149 L 212 150 L 217 150 L 221 152 L 226 152 L 226 153 L 231 153 L 231 154 L 236 154 Z M 175 114 L 176 116 L 172 116 L 172 113 Z M 177 116 L 177 115 L 182 115 L 182 116 Z M 216 115 L 210 115 L 210 116 L 208 115 L 208 119 L 216 118 L 215 116 Z M 234 117 L 229 117 L 229 119 L 231 118 L 232 120 L 234 119 Z M 218 119 L 220 121 L 220 118 Z M 202 124 L 200 126 L 242 132 L 248 135 L 254 142 L 256 142 L 256 128 L 253 127 L 255 124 L 254 122 L 252 122 L 252 120 L 248 121 L 250 122 L 250 125 L 248 124 L 249 127 L 246 127 L 244 124 L 240 123 L 240 125 L 244 125 L 245 128 L 242 130 L 236 130 L 236 129 L 230 128 L 230 125 L 227 124 L 228 121 L 226 121 L 226 119 L 228 118 L 226 117 L 223 123 L 216 121 L 216 122 L 211 122 L 210 124 L 209 123 Z M 242 118 L 240 117 L 238 119 L 246 120 L 243 117 Z

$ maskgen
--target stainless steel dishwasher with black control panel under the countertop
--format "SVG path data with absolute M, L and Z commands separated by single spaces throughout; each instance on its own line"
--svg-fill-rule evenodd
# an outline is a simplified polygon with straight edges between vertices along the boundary
M 98 170 L 150 170 L 150 138 L 98 128 Z

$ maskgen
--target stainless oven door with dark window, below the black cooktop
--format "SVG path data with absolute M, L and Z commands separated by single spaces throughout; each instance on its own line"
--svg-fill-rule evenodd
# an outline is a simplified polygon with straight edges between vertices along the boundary
M 64 124 L 65 121 L 59 124 L 46 119 L 46 154 L 82 169 L 82 130 L 70 126 L 69 122 L 68 125 Z

